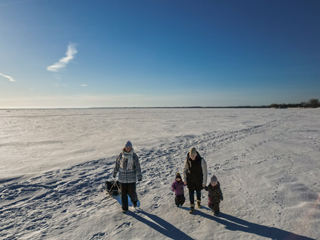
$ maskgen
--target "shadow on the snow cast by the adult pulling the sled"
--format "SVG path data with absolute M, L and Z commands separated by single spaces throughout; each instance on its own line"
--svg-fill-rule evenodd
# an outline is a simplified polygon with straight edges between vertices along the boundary
M 187 234 L 156 215 L 146 213 L 142 210 L 140 210 L 138 213 L 139 214 L 136 214 L 135 212 L 128 212 L 128 215 L 131 215 L 138 221 L 146 224 L 168 238 L 193 240 L 193 238 L 189 237 Z

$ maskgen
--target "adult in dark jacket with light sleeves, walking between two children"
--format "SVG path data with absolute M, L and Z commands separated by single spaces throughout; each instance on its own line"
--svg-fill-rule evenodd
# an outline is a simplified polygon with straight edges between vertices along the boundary
M 183 180 L 189 189 L 190 213 L 193 213 L 194 191 L 197 193 L 198 208 L 201 208 L 201 189 L 207 184 L 207 163 L 194 147 L 187 154 L 183 168 Z

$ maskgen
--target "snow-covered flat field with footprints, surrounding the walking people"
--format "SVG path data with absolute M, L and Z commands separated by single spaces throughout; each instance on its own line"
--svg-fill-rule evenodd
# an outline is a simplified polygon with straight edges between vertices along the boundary
M 1 239 L 320 239 L 320 109 L 0 110 Z M 127 140 L 141 208 L 104 182 Z M 213 216 L 170 191 L 195 146 L 218 177 Z

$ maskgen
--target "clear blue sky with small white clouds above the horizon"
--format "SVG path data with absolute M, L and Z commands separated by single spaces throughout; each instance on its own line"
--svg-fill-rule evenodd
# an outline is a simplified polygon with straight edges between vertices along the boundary
M 0 0 L 0 108 L 311 98 L 318 0 Z

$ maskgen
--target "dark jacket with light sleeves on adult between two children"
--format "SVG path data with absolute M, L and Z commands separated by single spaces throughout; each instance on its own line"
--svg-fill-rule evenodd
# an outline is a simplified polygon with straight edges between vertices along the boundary
M 202 184 L 207 185 L 207 163 L 197 152 L 195 160 L 191 160 L 189 153 L 183 168 L 183 181 L 187 182 L 189 190 L 201 190 Z

